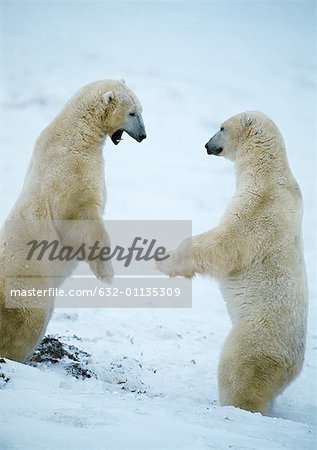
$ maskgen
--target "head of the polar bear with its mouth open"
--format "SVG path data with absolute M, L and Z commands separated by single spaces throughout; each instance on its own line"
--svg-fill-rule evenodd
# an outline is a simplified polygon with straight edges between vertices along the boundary
M 117 145 L 123 132 L 138 142 L 146 138 L 142 106 L 124 80 L 101 80 L 84 86 L 77 95 L 89 120 Z

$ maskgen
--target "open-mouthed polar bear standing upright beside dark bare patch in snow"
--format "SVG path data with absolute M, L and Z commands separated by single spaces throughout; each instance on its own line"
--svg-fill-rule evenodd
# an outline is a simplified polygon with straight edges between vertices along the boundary
M 101 80 L 81 88 L 40 134 L 22 192 L 6 227 L 14 228 L 22 222 L 24 231 L 20 228 L 19 233 L 27 236 L 28 224 L 34 221 L 54 221 L 53 227 L 56 223 L 71 221 L 67 244 L 71 242 L 76 248 L 82 243 L 89 245 L 99 241 L 109 246 L 103 223 L 106 191 L 102 148 L 107 136 L 117 145 L 123 132 L 138 142 L 146 138 L 141 104 L 125 82 Z M 53 301 L 36 308 L 6 307 L 5 261 L 15 258 L 21 266 L 25 263 L 22 253 L 5 255 L 7 234 L 3 227 L 0 236 L 0 355 L 25 361 L 45 332 Z M 52 234 L 63 241 L 61 229 L 53 230 Z M 24 237 L 21 236 L 21 240 Z M 51 273 L 46 273 L 45 264 L 41 264 L 32 259 L 27 267 L 31 277 L 33 273 L 40 273 L 43 278 L 13 279 L 14 287 L 45 289 L 63 281 L 63 277 L 51 277 Z M 91 260 L 89 265 L 99 279 L 111 282 L 110 261 Z

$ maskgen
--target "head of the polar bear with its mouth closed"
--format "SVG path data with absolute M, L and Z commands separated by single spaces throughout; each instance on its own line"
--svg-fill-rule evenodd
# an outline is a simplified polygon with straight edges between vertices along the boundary
M 208 155 L 224 156 L 235 161 L 238 155 L 260 147 L 262 150 L 276 139 L 282 138 L 274 122 L 261 112 L 248 111 L 223 122 L 205 148 Z

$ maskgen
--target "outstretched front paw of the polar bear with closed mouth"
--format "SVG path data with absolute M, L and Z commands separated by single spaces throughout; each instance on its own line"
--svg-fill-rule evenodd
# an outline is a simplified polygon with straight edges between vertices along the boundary
M 168 252 L 169 258 L 158 261 L 156 268 L 170 277 L 192 278 L 195 275 L 192 261 L 192 240 L 186 239 L 174 252 Z

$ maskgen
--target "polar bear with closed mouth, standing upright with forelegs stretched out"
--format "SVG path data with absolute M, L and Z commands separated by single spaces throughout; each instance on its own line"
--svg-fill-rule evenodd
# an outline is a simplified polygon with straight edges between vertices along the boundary
M 281 133 L 264 114 L 228 119 L 205 147 L 234 161 L 235 195 L 218 226 L 184 241 L 158 268 L 219 281 L 233 324 L 218 368 L 220 403 L 265 414 L 303 364 L 302 197 Z

